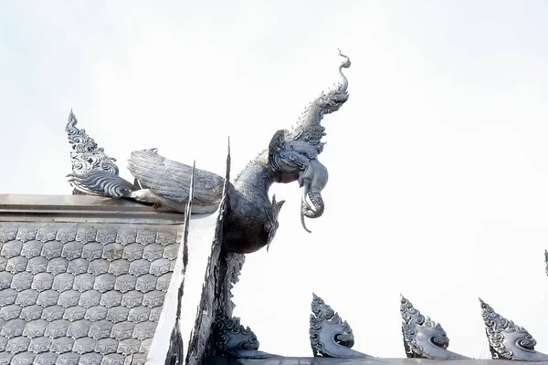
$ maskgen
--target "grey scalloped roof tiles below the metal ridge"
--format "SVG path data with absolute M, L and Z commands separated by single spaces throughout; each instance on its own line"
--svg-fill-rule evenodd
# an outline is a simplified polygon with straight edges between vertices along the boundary
M 0 222 L 0 365 L 144 364 L 178 232 Z

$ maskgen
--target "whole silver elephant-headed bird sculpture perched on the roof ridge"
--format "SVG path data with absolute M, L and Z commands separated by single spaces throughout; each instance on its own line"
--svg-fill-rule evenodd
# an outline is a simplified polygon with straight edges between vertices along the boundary
M 284 203 L 276 202 L 275 197 L 270 201 L 269 187 L 273 183 L 299 182 L 302 188 L 300 220 L 308 232 L 304 218 L 318 218 L 323 214 L 321 190 L 327 183 L 328 172 L 318 161 L 324 145 L 321 138 L 325 135 L 321 120 L 325 114 L 339 110 L 349 97 L 348 80 L 342 74 L 342 68 L 349 68 L 351 62 L 340 51 L 339 54 L 344 57 L 339 66 L 341 81 L 314 99 L 291 130 L 278 130 L 269 148 L 260 152 L 235 182 L 229 184 L 223 241 L 227 252 L 247 254 L 269 246 L 278 229 L 278 214 Z M 80 130 L 79 134 L 75 124 L 76 118 L 71 113 L 69 139 L 75 151 L 83 148 L 88 153 L 77 158 L 87 161 L 91 159 L 88 156 L 93 155 L 93 158 L 103 158 L 104 162 L 111 161 L 100 149 L 95 149 L 98 154 L 93 154 L 95 144 L 81 147 L 85 141 L 80 141 L 78 136 L 84 131 Z M 163 206 L 184 212 L 191 166 L 168 160 L 153 149 L 132 152 L 128 169 L 135 183 L 122 179 L 117 171 L 105 169 L 101 163 L 93 164 L 86 171 L 73 169 L 68 177 L 81 193 L 129 198 L 153 203 L 154 208 Z M 213 213 L 221 200 L 225 179 L 216 173 L 195 169 L 195 182 L 192 213 Z

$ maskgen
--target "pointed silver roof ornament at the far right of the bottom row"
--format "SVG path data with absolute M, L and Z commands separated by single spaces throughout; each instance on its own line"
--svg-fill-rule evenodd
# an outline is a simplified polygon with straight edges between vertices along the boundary
M 525 328 L 502 317 L 481 298 L 479 298 L 479 304 L 493 359 L 548 361 L 548 355 L 534 349 L 536 340 Z

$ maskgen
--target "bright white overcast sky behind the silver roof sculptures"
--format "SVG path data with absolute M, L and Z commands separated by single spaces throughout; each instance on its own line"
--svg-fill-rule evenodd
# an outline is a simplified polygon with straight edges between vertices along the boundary
M 326 212 L 309 235 L 297 184 L 272 189 L 288 202 L 236 314 L 260 349 L 310 356 L 314 291 L 354 349 L 404 357 L 401 292 L 486 358 L 482 297 L 548 352 L 547 18 L 532 0 L 3 2 L 0 192 L 70 193 L 71 108 L 126 178 L 151 147 L 222 174 L 228 135 L 236 176 L 336 81 L 341 47 Z

